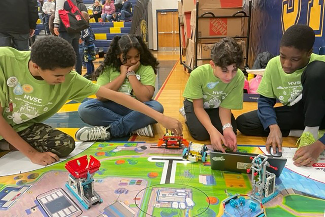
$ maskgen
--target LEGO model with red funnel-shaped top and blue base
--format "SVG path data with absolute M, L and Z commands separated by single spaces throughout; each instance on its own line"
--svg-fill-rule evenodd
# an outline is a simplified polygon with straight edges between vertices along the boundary
M 91 155 L 89 162 L 87 155 L 85 155 L 70 160 L 65 164 L 65 168 L 70 172 L 65 186 L 85 209 L 89 209 L 91 206 L 103 202 L 94 190 L 93 175 L 99 170 L 99 167 L 99 160 Z

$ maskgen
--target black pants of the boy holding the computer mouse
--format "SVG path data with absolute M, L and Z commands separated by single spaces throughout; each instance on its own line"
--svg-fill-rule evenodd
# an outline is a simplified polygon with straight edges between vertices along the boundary
M 290 130 L 304 130 L 305 126 L 325 129 L 325 62 L 311 62 L 301 76 L 303 97 L 293 106 L 275 108 L 283 137 Z M 257 116 L 257 110 L 237 118 L 238 130 L 245 135 L 268 136 Z

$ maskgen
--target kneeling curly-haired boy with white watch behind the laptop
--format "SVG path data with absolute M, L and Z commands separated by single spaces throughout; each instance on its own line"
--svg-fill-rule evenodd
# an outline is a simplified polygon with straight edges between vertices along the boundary
M 224 143 L 237 150 L 236 121 L 231 109 L 242 109 L 244 74 L 240 45 L 225 38 L 211 50 L 210 64 L 190 74 L 183 96 L 186 124 L 194 139 L 211 140 L 216 150 L 225 152 Z

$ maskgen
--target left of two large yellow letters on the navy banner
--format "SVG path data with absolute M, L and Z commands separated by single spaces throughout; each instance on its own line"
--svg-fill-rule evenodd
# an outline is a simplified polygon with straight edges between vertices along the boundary
M 282 0 L 282 33 L 298 23 L 300 11 L 301 0 Z

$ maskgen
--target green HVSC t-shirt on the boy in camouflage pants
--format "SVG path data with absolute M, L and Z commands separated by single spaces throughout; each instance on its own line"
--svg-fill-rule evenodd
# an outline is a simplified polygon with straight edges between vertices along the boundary
M 2 115 L 16 132 L 51 117 L 67 100 L 82 101 L 99 89 L 99 85 L 75 71 L 67 74 L 61 84 L 50 85 L 36 80 L 28 69 L 30 54 L 30 51 L 0 47 Z

